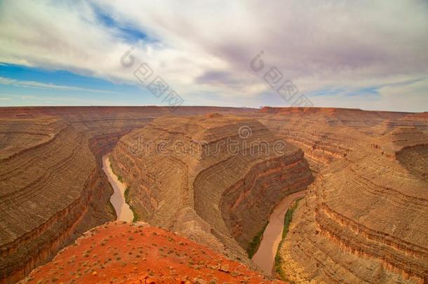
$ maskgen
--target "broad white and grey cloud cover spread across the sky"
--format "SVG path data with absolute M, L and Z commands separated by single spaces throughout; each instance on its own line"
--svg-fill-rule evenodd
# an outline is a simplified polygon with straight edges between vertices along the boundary
M 267 67 L 278 67 L 302 93 L 428 76 L 423 0 L 3 1 L 0 61 L 137 83 L 119 62 L 129 44 L 102 25 L 88 3 L 156 39 L 135 44 L 133 54 L 200 104 L 213 103 L 212 93 L 222 97 L 220 104 L 262 104 L 258 95 L 269 88 L 249 68 L 260 50 Z M 410 104 L 419 102 L 412 89 L 401 91 L 415 98 L 406 106 L 417 107 Z M 346 100 L 346 107 L 373 106 L 363 95 L 358 103 Z

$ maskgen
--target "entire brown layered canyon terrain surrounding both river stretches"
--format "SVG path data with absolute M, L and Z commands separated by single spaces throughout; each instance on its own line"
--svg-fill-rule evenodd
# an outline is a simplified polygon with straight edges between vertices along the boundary
M 107 223 L 117 216 L 103 156 L 126 184 L 135 224 Z M 285 280 L 427 282 L 427 113 L 0 108 L 0 283 L 25 278 L 61 251 L 26 278 L 44 280 L 55 262 L 88 250 L 84 241 L 62 250 L 85 231 L 96 227 L 108 234 L 102 229 L 108 226 L 119 236 L 135 231 L 136 224 L 207 248 L 229 259 L 229 266 L 248 269 L 244 276 L 263 277 L 262 267 L 248 257 L 250 244 L 276 205 L 304 190 L 279 248 Z M 127 250 L 126 243 L 116 246 Z M 91 254 L 104 249 L 91 248 Z M 101 276 L 90 272 L 79 279 L 96 282 Z M 132 277 L 137 281 L 140 274 Z

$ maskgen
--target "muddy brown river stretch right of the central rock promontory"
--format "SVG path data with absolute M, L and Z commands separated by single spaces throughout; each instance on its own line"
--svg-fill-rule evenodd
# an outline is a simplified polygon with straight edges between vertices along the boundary
M 269 224 L 267 224 L 263 233 L 262 241 L 260 241 L 257 252 L 253 255 L 253 262 L 265 271 L 267 275 L 272 275 L 272 271 L 274 271 L 275 255 L 282 238 L 284 217 L 288 207 L 297 198 L 305 196 L 305 193 L 306 191 L 297 191 L 286 196 L 276 205 L 269 217 Z

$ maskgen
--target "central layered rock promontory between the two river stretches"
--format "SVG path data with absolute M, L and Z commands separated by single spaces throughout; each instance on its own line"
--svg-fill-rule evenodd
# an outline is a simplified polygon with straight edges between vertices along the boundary
M 248 263 L 273 206 L 313 179 L 300 149 L 238 116 L 156 119 L 119 141 L 112 164 L 141 219 Z

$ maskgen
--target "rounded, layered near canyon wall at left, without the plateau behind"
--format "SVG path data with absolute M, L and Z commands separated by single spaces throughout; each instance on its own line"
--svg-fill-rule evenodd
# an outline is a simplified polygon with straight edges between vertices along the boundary
M 100 178 L 88 135 L 65 124 L 52 130 L 51 140 L 1 162 L 0 272 L 7 282 L 52 256 L 79 224 L 94 223 L 88 212 L 102 211 L 98 224 L 112 219 L 108 208 L 94 202 L 103 195 L 96 192 Z

